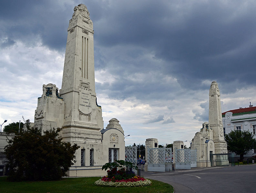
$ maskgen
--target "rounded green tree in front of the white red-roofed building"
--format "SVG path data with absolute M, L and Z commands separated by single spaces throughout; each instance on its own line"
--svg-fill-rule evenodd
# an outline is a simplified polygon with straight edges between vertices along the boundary
M 243 160 L 244 154 L 248 153 L 251 149 L 256 149 L 256 140 L 249 130 L 231 130 L 229 134 L 225 135 L 225 141 L 229 151 L 240 155 L 240 161 Z

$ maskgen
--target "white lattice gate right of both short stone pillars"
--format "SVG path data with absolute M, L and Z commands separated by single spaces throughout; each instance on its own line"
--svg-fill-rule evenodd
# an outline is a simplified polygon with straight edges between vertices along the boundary
M 196 150 L 176 149 L 175 163 L 175 169 L 191 169 L 197 167 Z

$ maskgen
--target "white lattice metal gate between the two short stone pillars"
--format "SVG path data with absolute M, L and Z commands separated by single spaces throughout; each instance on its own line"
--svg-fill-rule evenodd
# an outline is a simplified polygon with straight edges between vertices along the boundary
M 171 158 L 171 148 L 148 148 L 148 171 L 166 171 L 171 167 Z

